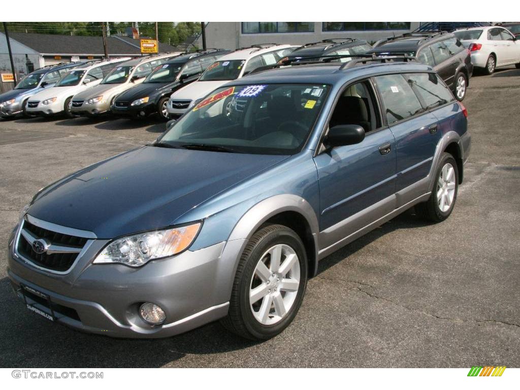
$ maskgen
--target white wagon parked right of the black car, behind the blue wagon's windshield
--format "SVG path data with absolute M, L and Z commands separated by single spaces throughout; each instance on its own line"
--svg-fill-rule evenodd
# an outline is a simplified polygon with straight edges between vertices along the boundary
M 202 73 L 199 80 L 180 88 L 171 96 L 166 106 L 170 118 L 178 118 L 204 96 L 230 80 L 240 79 L 256 68 L 276 64 L 297 47 L 300 46 L 254 45 L 220 57 Z

